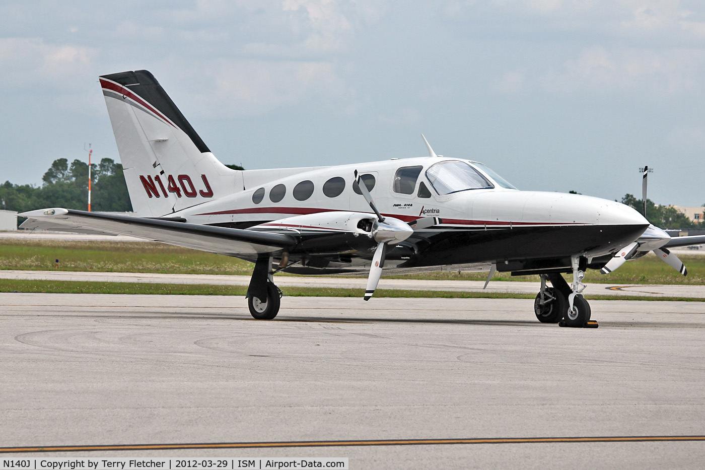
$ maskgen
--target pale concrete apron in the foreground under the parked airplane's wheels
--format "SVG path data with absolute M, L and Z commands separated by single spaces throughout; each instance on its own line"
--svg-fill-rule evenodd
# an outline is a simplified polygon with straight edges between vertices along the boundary
M 229 296 L 0 294 L 0 446 L 705 435 L 705 303 L 593 301 L 596 330 L 521 299 L 282 305 L 267 322 Z M 84 454 L 697 468 L 705 442 Z

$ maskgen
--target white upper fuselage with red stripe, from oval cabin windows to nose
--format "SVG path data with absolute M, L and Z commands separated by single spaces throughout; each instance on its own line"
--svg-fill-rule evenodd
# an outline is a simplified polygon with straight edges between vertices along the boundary
M 298 174 L 267 183 L 258 181 L 258 184 L 245 188 L 245 191 L 189 207 L 174 213 L 173 216 L 185 217 L 188 222 L 196 224 L 232 224 L 233 227 L 250 227 L 297 215 L 331 211 L 371 213 L 364 197 L 353 191 L 354 174 L 357 170 L 360 174 L 374 176 L 375 184 L 370 193 L 382 215 L 405 222 L 421 217 L 440 217 L 443 219 L 443 224 L 436 227 L 436 230 L 449 227 L 513 229 L 542 226 L 648 225 L 646 219 L 637 211 L 615 201 L 586 195 L 503 188 L 490 174 L 486 174 L 482 167 L 476 167 L 476 169 L 491 181 L 494 188 L 470 189 L 440 195 L 434 191 L 425 171 L 432 164 L 449 160 L 458 160 L 472 165 L 472 162 L 462 159 L 419 157 L 305 169 Z M 422 171 L 418 175 L 412 193 L 395 191 L 394 179 L 398 169 L 417 166 L 421 166 Z M 336 177 L 345 181 L 344 188 L 339 195 L 329 197 L 322 189 L 326 181 Z M 247 171 L 244 172 L 244 179 L 247 181 Z M 313 191 L 304 200 L 297 200 L 293 190 L 302 181 L 311 181 Z M 425 194 L 427 197 L 419 195 L 418 188 L 422 183 L 429 189 L 429 193 Z M 282 192 L 281 185 L 283 185 L 283 197 L 279 200 Z M 278 194 L 270 197 L 272 189 L 276 186 L 278 186 Z M 255 198 L 255 201 L 259 200 L 255 203 L 253 195 L 257 191 L 259 193 L 264 191 L 264 194 L 261 200 Z M 602 250 L 594 255 L 608 252 L 609 250 Z

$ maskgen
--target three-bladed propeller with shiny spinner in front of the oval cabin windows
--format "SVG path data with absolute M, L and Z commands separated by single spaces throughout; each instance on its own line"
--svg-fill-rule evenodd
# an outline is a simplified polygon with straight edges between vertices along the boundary
M 387 253 L 387 243 L 399 243 L 404 241 L 414 233 L 414 229 L 410 227 L 409 224 L 396 219 L 394 217 L 382 217 L 377 210 L 376 205 L 374 205 L 374 200 L 372 196 L 369 195 L 367 191 L 367 186 L 362 181 L 357 170 L 355 170 L 355 182 L 357 186 L 360 186 L 360 192 L 367 200 L 367 204 L 372 208 L 374 213 L 377 215 L 377 219 L 372 224 L 372 238 L 376 241 L 377 248 L 374 250 L 374 256 L 372 257 L 372 266 L 369 268 L 369 276 L 367 277 L 367 287 L 364 289 L 364 300 L 369 300 L 374 294 L 377 284 L 379 283 L 379 277 L 382 275 L 382 268 L 384 267 L 384 259 Z M 430 219 L 430 220 L 427 220 Z M 419 219 L 415 227 L 426 228 L 435 225 L 435 220 L 440 220 L 438 217 L 424 217 Z

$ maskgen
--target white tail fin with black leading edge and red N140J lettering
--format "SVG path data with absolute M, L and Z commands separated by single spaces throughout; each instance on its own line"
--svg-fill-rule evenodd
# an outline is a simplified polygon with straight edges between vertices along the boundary
M 242 190 L 242 171 L 216 159 L 152 73 L 113 73 L 100 84 L 137 215 L 161 217 Z

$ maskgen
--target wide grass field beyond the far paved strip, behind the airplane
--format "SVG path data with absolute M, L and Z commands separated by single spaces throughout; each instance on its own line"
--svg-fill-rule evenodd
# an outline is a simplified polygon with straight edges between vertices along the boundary
M 0 244 L 0 269 L 97 272 L 158 272 L 166 274 L 250 275 L 252 263 L 223 255 L 149 242 L 4 240 Z M 655 255 L 627 262 L 615 272 L 601 275 L 589 270 L 586 284 L 705 284 L 705 256 L 683 255 L 688 268 L 683 277 Z M 429 272 L 397 276 L 401 279 L 462 279 L 484 281 L 486 273 Z M 497 273 L 495 281 L 536 281 L 537 276 Z M 569 282 L 572 279 L 569 279 Z

